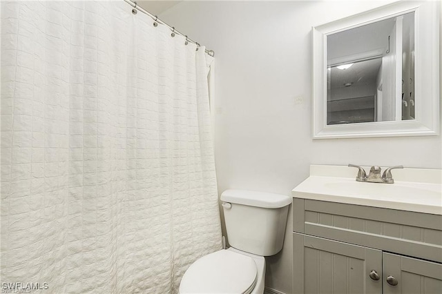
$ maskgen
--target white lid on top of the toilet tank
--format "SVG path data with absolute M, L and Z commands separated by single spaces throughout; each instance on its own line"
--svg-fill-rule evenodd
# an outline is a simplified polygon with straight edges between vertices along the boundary
M 291 204 L 291 197 L 273 193 L 229 189 L 221 194 L 221 201 L 262 208 L 281 208 Z

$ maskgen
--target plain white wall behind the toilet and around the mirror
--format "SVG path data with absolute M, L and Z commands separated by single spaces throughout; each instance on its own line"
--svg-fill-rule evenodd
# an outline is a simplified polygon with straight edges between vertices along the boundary
M 391 1 L 183 1 L 160 18 L 215 50 L 219 190 L 290 195 L 310 164 L 442 168 L 441 136 L 311 139 L 311 27 Z M 355 174 L 356 175 L 356 174 Z M 266 285 L 291 293 L 291 215 Z

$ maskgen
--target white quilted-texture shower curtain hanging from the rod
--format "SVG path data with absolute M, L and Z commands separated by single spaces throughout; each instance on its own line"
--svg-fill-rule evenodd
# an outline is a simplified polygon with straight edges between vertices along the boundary
M 211 57 L 131 10 L 1 3 L 2 288 L 176 293 L 221 247 Z

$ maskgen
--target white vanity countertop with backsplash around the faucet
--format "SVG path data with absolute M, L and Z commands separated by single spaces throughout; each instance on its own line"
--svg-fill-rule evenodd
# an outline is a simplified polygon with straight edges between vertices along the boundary
M 369 167 L 364 167 L 369 171 Z M 383 168 L 384 170 L 385 168 Z M 293 197 L 442 215 L 442 170 L 392 170 L 394 184 L 356 182 L 356 168 L 311 166 Z M 416 182 L 420 181 L 420 182 Z

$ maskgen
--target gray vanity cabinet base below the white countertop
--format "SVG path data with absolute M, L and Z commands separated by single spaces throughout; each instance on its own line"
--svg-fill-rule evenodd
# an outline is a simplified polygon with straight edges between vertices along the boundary
M 293 210 L 294 293 L 442 294 L 442 215 L 299 198 Z

